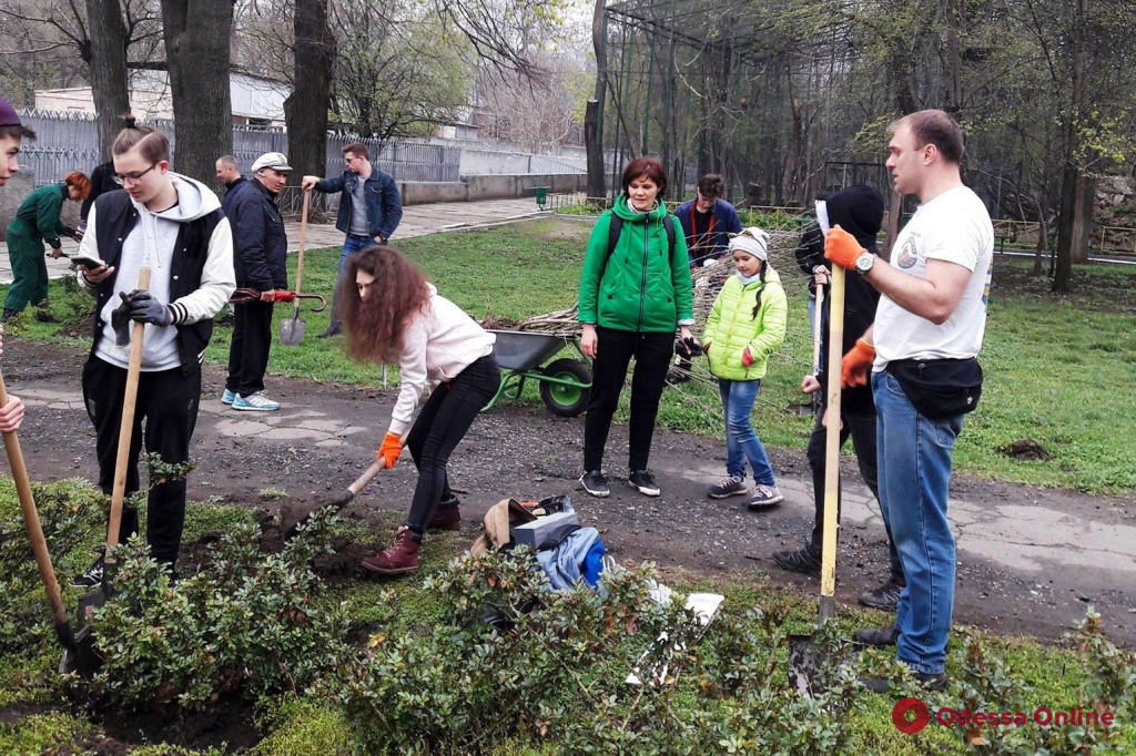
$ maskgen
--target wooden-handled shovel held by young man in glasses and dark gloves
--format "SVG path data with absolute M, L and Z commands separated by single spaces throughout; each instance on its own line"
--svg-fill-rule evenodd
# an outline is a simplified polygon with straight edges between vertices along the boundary
M 150 269 L 139 271 L 139 289 L 150 288 Z M 123 520 L 123 499 L 126 497 L 126 468 L 131 456 L 131 436 L 134 430 L 134 404 L 139 393 L 139 373 L 142 372 L 142 339 L 145 324 L 135 322 L 131 336 L 131 358 L 126 368 L 126 394 L 123 397 L 123 420 L 118 427 L 118 454 L 115 457 L 115 487 L 110 495 L 110 521 L 107 523 L 107 551 L 102 557 L 102 585 L 84 594 L 78 599 L 80 646 L 93 644 L 91 636 L 91 613 L 100 608 L 114 595 L 114 577 L 118 561 L 114 548 L 118 545 L 118 528 Z

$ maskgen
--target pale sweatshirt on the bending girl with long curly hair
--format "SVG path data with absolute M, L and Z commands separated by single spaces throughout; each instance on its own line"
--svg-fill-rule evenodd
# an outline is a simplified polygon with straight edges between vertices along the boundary
M 391 413 L 391 432 L 410 429 L 423 390 L 452 380 L 467 367 L 493 352 L 496 336 L 487 333 L 461 308 L 441 296 L 433 284 L 429 299 L 402 336 L 399 352 L 399 401 Z

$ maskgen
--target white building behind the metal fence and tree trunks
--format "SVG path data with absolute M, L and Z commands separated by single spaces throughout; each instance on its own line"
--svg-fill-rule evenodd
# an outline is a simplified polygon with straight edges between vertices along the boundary
M 291 93 L 287 84 L 259 76 L 233 72 L 228 77 L 233 102 L 233 123 L 251 126 L 283 126 L 284 100 Z M 131 112 L 140 118 L 174 117 L 174 100 L 169 74 L 164 70 L 130 72 Z M 35 109 L 55 112 L 94 114 L 94 95 L 90 86 L 62 90 L 36 90 Z

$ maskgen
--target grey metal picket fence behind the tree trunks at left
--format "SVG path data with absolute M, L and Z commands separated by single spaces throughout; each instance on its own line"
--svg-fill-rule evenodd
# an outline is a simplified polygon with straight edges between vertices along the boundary
M 33 174 L 35 185 L 59 180 L 72 170 L 90 173 L 99 165 L 99 133 L 94 116 L 82 112 L 25 111 L 22 120 L 36 133 L 20 151 L 20 163 Z M 147 121 L 169 137 L 170 159 L 176 169 L 177 154 L 174 123 Z M 325 176 L 336 176 L 345 169 L 343 148 L 362 142 L 370 150 L 371 162 L 398 180 L 456 182 L 461 166 L 461 148 L 417 142 L 386 142 L 361 138 L 352 134 L 329 133 Z M 243 173 L 265 152 L 287 154 L 287 134 L 282 128 L 233 126 L 233 157 Z M 220 156 L 217 156 L 220 157 Z

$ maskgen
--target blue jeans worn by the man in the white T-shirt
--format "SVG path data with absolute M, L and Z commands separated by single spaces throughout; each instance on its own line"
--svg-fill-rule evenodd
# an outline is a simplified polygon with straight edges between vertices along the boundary
M 887 372 L 874 372 L 879 509 L 891 528 L 908 585 L 900 594 L 896 657 L 938 674 L 954 608 L 954 534 L 946 519 L 951 452 L 962 415 L 930 420 Z

